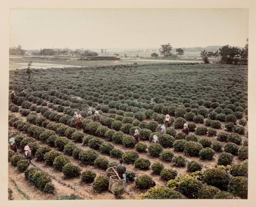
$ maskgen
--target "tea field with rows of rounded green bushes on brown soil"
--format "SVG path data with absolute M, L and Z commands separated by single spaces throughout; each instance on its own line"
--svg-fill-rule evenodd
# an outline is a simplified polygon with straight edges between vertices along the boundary
M 8 153 L 9 199 L 247 198 L 247 66 L 130 64 L 31 77 L 9 71 L 8 139 L 18 147 Z M 172 125 L 160 134 L 166 114 Z M 114 195 L 106 169 L 120 158 L 128 183 Z

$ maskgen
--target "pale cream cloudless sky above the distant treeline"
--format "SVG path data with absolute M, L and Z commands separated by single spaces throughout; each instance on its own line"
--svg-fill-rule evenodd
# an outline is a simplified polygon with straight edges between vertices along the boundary
M 40 48 L 244 46 L 247 9 L 11 9 L 9 44 Z

